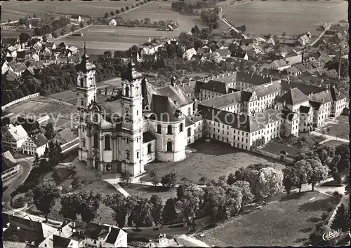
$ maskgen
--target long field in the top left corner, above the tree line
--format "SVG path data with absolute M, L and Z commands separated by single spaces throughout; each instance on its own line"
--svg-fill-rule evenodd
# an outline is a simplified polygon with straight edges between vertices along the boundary
M 1 20 L 18 20 L 26 15 L 39 15 L 40 13 L 55 13 L 59 15 L 90 15 L 103 16 L 106 12 L 126 6 L 131 6 L 131 1 L 1 1 Z

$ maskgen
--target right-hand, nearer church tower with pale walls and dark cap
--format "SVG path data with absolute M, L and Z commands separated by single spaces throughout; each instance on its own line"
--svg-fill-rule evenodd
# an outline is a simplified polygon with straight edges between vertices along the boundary
M 122 78 L 121 172 L 132 176 L 144 172 L 143 166 L 143 75 L 132 59 Z

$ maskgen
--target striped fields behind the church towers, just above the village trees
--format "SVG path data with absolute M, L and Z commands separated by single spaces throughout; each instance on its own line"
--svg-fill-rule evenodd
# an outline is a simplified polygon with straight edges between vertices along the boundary
M 83 33 L 83 36 L 67 36 L 63 39 L 58 39 L 58 42 L 65 42 L 69 46 L 83 48 L 84 41 L 86 41 L 86 50 L 90 54 L 102 54 L 106 50 L 111 50 L 113 54 L 115 50 L 128 50 L 133 45 L 143 44 L 148 41 L 149 37 L 153 39 L 162 36 L 173 37 L 180 34 L 178 31 L 157 31 L 154 28 L 110 27 L 103 25 L 88 27 L 81 33 Z

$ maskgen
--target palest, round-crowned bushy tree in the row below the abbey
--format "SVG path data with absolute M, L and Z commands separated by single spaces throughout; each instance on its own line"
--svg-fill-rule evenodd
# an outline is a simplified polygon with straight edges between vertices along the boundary
M 283 172 L 280 170 L 275 170 L 272 167 L 261 169 L 258 176 L 260 196 L 267 198 L 281 193 L 283 191 L 283 178 Z

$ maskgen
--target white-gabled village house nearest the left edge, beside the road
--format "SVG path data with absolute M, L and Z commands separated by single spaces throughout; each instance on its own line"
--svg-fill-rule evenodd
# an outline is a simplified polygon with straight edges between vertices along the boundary
M 22 144 L 27 139 L 28 134 L 22 125 L 12 123 L 2 127 L 2 144 L 4 149 L 9 151 L 22 151 Z

